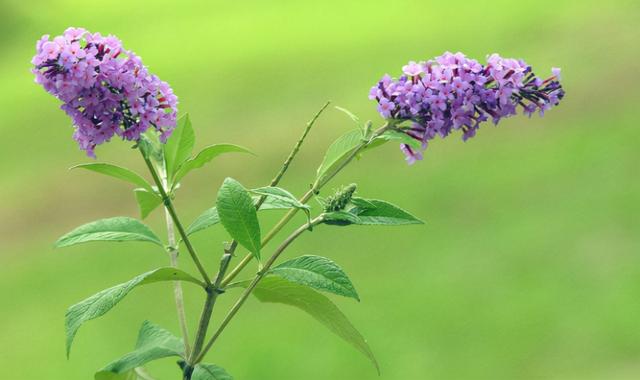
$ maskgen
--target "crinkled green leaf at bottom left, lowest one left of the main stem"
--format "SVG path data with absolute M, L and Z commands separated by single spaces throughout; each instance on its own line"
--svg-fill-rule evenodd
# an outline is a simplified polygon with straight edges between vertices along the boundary
M 112 379 L 113 375 L 126 375 L 134 372 L 136 367 L 170 356 L 184 357 L 182 340 L 162 327 L 145 321 L 138 333 L 136 349 L 107 364 L 96 373 L 95 379 L 107 380 Z

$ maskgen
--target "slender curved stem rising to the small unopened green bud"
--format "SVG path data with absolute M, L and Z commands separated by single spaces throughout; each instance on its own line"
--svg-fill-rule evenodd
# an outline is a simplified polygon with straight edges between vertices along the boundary
M 211 347 L 213 346 L 213 344 L 215 343 L 215 341 L 218 339 L 218 337 L 220 336 L 220 334 L 222 334 L 222 332 L 224 331 L 224 329 L 227 327 L 227 325 L 229 324 L 229 322 L 231 322 L 231 320 L 233 319 L 233 317 L 238 313 L 238 310 L 240 310 L 240 308 L 242 307 L 242 305 L 244 304 L 244 302 L 247 300 L 247 298 L 249 297 L 249 295 L 251 294 L 251 292 L 253 291 L 253 289 L 255 289 L 256 285 L 258 285 L 258 283 L 260 282 L 260 280 L 262 280 L 262 278 L 264 278 L 264 276 L 267 274 L 267 272 L 269 271 L 269 268 L 271 268 L 271 266 L 273 265 L 273 263 L 278 259 L 278 257 L 280 256 L 280 254 L 287 249 L 287 247 L 298 238 L 298 236 L 302 235 L 303 232 L 307 231 L 308 229 L 310 229 L 311 227 L 318 225 L 320 223 L 322 223 L 323 219 L 322 217 L 317 217 L 313 220 L 311 220 L 308 224 L 304 224 L 302 226 L 300 226 L 297 230 L 295 230 L 291 235 L 289 235 L 289 237 L 287 237 L 282 244 L 280 244 L 280 246 L 278 246 L 278 248 L 276 249 L 276 251 L 273 253 L 273 255 L 271 255 L 271 257 L 269 257 L 269 260 L 267 260 L 267 262 L 265 263 L 264 267 L 262 268 L 262 270 L 260 272 L 258 272 L 256 274 L 256 277 L 253 279 L 253 281 L 251 281 L 251 283 L 249 284 L 249 286 L 247 286 L 247 288 L 244 290 L 244 292 L 240 295 L 240 298 L 238 298 L 238 300 L 236 301 L 236 303 L 231 307 L 231 309 L 229 310 L 229 312 L 227 313 L 227 315 L 224 317 L 224 319 L 222 320 L 222 322 L 220 323 L 220 326 L 218 327 L 218 329 L 216 330 L 216 332 L 211 336 L 211 338 L 209 339 L 209 342 L 207 342 L 207 345 L 204 347 L 204 349 L 202 350 L 202 352 L 196 356 L 196 359 L 193 361 L 193 363 L 199 363 L 203 358 L 204 355 L 206 355 L 207 351 L 209 351 L 211 349 Z

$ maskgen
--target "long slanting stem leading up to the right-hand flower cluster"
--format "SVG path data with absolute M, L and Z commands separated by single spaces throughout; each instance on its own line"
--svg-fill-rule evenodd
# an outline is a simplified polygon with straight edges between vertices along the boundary
M 331 172 L 330 174 L 324 176 L 321 179 L 316 180 L 316 182 L 313 184 L 313 186 L 311 186 L 311 189 L 309 189 L 309 191 L 307 191 L 302 198 L 299 199 L 300 203 L 307 203 L 309 201 L 309 199 L 311 199 L 311 197 L 316 194 L 318 191 L 320 191 L 320 189 L 327 184 L 327 182 L 329 182 L 333 177 L 335 177 L 342 169 L 344 169 L 351 161 L 353 161 L 353 159 L 360 153 L 362 152 L 362 150 L 364 148 L 366 148 L 375 138 L 377 138 L 378 136 L 380 136 L 381 134 L 383 134 L 385 131 L 387 131 L 389 128 L 392 127 L 392 123 L 387 122 L 385 123 L 382 127 L 380 127 L 379 129 L 377 129 L 369 139 L 363 140 L 362 143 L 360 145 L 358 145 L 353 152 L 351 152 L 351 154 L 349 156 L 347 156 L 347 158 L 342 162 L 342 164 L 340 164 L 333 172 Z M 265 237 L 262 239 L 262 246 L 264 247 L 267 243 L 269 243 L 269 241 L 271 241 L 271 239 L 273 239 L 278 232 L 280 232 L 280 230 L 282 230 L 287 223 L 289 223 L 289 221 L 296 215 L 296 213 L 299 211 L 299 209 L 297 208 L 293 208 L 291 210 L 289 210 L 289 212 L 287 212 L 282 219 L 280 219 L 280 221 L 278 221 L 278 223 L 267 233 L 267 235 L 265 235 Z M 244 269 L 244 267 L 247 266 L 247 264 L 249 264 L 249 262 L 251 262 L 251 260 L 253 259 L 253 255 L 252 254 L 247 254 L 242 261 L 240 261 L 238 263 L 238 265 L 233 268 L 231 270 L 231 272 L 229 273 L 229 275 L 222 281 L 222 287 L 224 288 L 225 286 L 229 285 L 229 283 L 231 281 L 233 281 L 233 279 Z

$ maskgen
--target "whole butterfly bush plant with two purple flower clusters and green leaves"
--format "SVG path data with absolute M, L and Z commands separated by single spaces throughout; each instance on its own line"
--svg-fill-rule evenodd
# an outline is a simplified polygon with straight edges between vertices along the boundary
M 522 60 L 497 54 L 485 64 L 462 53 L 444 53 L 434 60 L 409 62 L 397 77 L 385 75 L 369 93 L 382 116 L 378 127 L 361 123 L 346 112 L 357 128 L 339 137 L 327 150 L 310 189 L 296 197 L 278 187 L 296 157 L 325 104 L 307 123 L 284 164 L 267 186 L 248 188 L 227 178 L 217 193 L 215 207 L 205 210 L 187 225 L 179 217 L 173 200 L 180 182 L 194 169 L 228 153 L 250 153 L 233 144 L 211 145 L 193 154 L 194 131 L 189 117 L 178 118 L 177 97 L 171 87 L 150 73 L 142 60 L 126 50 L 114 36 L 102 36 L 80 28 L 69 28 L 52 40 L 44 36 L 36 44 L 33 73 L 36 82 L 60 99 L 63 111 L 73 120 L 73 138 L 80 149 L 95 157 L 98 145 L 113 138 L 130 141 L 148 169 L 143 176 L 120 166 L 92 162 L 75 168 L 115 177 L 135 186 L 133 192 L 141 219 L 154 210 L 164 211 L 166 239 L 163 240 L 140 219 L 113 217 L 82 225 L 62 236 L 57 247 L 93 241 L 142 241 L 168 253 L 166 267 L 142 273 L 126 282 L 102 290 L 71 306 L 65 318 L 67 356 L 79 328 L 114 308 L 136 287 L 155 282 L 172 282 L 180 326 L 178 335 L 154 323 L 142 323 L 138 341 L 130 352 L 104 366 L 96 379 L 151 379 L 145 365 L 174 357 L 176 377 L 182 379 L 231 379 L 221 366 L 205 361 L 220 335 L 228 328 L 251 296 L 261 302 L 295 306 L 350 343 L 378 368 L 366 340 L 324 293 L 359 301 L 345 272 L 331 259 L 300 256 L 279 262 L 291 243 L 308 233 L 326 233 L 324 226 L 407 225 L 422 221 L 400 207 L 360 196 L 356 186 L 340 187 L 321 197 L 320 191 L 355 158 L 388 141 L 400 143 L 409 163 L 423 158 L 427 145 L 440 136 L 459 132 L 466 140 L 475 136 L 485 121 L 498 124 L 505 117 L 522 112 L 542 115 L 564 95 L 559 69 L 547 79 L 536 76 Z M 319 206 L 308 203 L 315 198 Z M 283 216 L 265 230 L 259 215 L 264 210 L 282 210 Z M 272 246 L 281 232 L 303 212 L 304 223 Z M 230 242 L 220 252 L 217 268 L 207 268 L 191 242 L 192 235 L 221 224 Z M 266 231 L 266 232 L 265 232 Z M 241 251 L 246 255 L 241 256 Z M 178 252 L 186 252 L 197 269 L 179 269 Z M 208 255 L 213 254 L 207 252 Z M 183 255 L 184 256 L 184 255 Z M 186 315 L 182 284 L 202 290 L 199 318 L 190 323 Z M 231 308 L 217 325 L 211 324 L 219 297 L 235 297 Z M 189 329 L 188 326 L 195 326 Z M 179 371 L 179 372 L 178 372 Z

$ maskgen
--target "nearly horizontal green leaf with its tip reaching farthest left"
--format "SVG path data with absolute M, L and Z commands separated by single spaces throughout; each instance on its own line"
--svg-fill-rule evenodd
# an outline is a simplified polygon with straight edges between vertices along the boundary
M 149 227 L 126 216 L 84 224 L 58 239 L 54 246 L 68 247 L 90 241 L 148 241 L 163 246 L 160 238 Z

